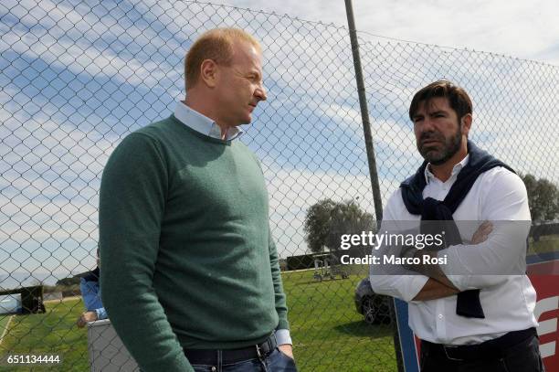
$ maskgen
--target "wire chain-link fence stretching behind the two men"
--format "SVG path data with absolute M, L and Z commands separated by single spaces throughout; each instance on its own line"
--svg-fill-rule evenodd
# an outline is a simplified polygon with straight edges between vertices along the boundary
M 14 290 L 0 297 L 0 311 L 37 313 L 0 314 L 0 356 L 50 354 L 62 358 L 56 370 L 91 367 L 96 351 L 76 326 L 84 303 L 75 275 L 96 266 L 103 166 L 124 136 L 169 116 L 183 99 L 183 58 L 195 37 L 235 26 L 263 46 L 269 101 L 241 141 L 258 154 L 268 183 L 298 365 L 396 370 L 387 307 L 360 284 L 367 268 L 335 265 L 328 252 L 310 255 L 305 241 L 307 211 L 324 199 L 374 215 L 346 28 L 151 0 L 5 0 L 0 19 L 0 286 Z M 557 183 L 559 69 L 372 39 L 359 41 L 384 200 L 420 164 L 409 101 L 441 78 L 473 99 L 470 138 L 523 174 Z M 289 267 L 291 256 L 301 257 Z M 301 262 L 307 269 L 287 271 Z

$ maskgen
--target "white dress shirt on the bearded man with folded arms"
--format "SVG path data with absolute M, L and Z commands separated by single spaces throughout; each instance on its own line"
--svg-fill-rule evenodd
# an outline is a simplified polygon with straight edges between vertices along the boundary
M 423 197 L 443 200 L 468 161 L 469 155 L 454 166 L 452 175 L 446 182 L 440 181 L 427 166 L 427 186 L 423 190 Z M 481 174 L 453 218 L 456 221 L 479 221 L 479 224 L 485 220 L 529 221 L 528 197 L 522 179 L 502 167 L 495 167 Z M 401 189 L 398 188 L 386 203 L 381 231 L 385 231 L 384 226 L 395 224 L 386 221 L 419 223 L 420 219 L 420 216 L 407 211 Z M 469 242 L 475 229 L 464 231 L 460 229 L 460 224 L 457 225 L 462 241 Z M 421 274 L 375 275 L 372 266 L 371 286 L 374 292 L 406 301 L 409 304 L 409 326 L 419 338 L 432 343 L 480 344 L 507 332 L 536 326 L 537 321 L 533 315 L 536 292 L 526 275 L 480 274 L 510 272 L 507 268 L 512 262 L 516 264 L 522 261 L 525 267 L 525 237 L 530 226 L 529 223 L 524 223 L 523 226 L 526 227 L 525 231 L 519 233 L 523 234 L 524 240 L 513 239 L 511 234 L 493 230 L 489 238 L 478 245 L 459 244 L 438 251 L 439 258 L 445 254 L 448 256 L 448 264 L 441 268 L 450 282 L 460 291 L 481 290 L 480 302 L 484 319 L 457 315 L 456 295 L 430 301 L 413 301 L 428 279 Z M 507 254 L 503 255 L 503 252 Z M 457 272 L 460 274 L 456 274 Z

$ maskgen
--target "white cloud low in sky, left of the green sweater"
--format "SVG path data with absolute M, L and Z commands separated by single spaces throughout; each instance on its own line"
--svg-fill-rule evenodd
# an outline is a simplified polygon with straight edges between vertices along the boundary
M 0 117 L 12 129 L 9 138 L 21 138 L 0 160 L 3 269 L 90 269 L 98 239 L 100 173 L 117 139 L 55 122 L 44 112 L 21 126 L 17 115 L 0 111 Z

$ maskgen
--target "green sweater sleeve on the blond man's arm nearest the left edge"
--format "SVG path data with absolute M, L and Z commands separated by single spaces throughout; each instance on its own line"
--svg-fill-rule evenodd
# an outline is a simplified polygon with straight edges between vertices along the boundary
M 161 145 L 132 133 L 100 186 L 100 286 L 111 324 L 144 372 L 193 371 L 153 289 L 168 169 Z

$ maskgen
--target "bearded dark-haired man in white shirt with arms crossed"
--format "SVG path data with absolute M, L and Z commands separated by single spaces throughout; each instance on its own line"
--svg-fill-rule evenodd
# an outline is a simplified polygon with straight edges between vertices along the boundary
M 468 140 L 472 104 L 451 82 L 419 90 L 409 117 L 425 162 L 389 198 L 381 231 L 444 226 L 441 250 L 407 247 L 403 256 L 448 263 L 409 264 L 400 275 L 372 267 L 374 292 L 409 303 L 423 372 L 542 371 L 536 295 L 524 274 L 530 211 L 521 178 Z M 468 220 L 473 228 L 459 223 Z

